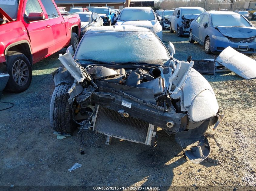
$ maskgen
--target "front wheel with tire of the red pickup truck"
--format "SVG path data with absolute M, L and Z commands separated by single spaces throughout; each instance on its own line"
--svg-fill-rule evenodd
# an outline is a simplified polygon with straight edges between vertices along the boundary
M 10 51 L 6 55 L 6 71 L 10 78 L 5 91 L 20 93 L 28 89 L 32 80 L 32 68 L 28 58 L 19 52 Z

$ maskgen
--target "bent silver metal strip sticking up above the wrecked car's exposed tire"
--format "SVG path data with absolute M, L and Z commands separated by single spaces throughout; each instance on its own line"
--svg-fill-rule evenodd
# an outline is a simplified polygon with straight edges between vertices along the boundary
M 70 53 L 66 53 L 64 55 L 60 54 L 59 60 L 76 81 L 83 82 L 85 79 L 91 81 L 90 75 L 79 63 L 74 61 Z

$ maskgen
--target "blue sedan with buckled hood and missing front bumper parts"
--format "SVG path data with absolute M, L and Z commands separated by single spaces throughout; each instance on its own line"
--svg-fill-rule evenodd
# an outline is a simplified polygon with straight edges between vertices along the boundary
M 238 13 L 204 12 L 190 27 L 189 42 L 197 41 L 207 54 L 221 52 L 228 46 L 242 53 L 256 53 L 256 28 Z

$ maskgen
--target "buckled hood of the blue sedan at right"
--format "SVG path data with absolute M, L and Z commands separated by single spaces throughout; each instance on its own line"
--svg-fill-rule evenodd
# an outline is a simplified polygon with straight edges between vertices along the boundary
M 216 27 L 224 36 L 231 38 L 250 38 L 256 36 L 254 27 Z

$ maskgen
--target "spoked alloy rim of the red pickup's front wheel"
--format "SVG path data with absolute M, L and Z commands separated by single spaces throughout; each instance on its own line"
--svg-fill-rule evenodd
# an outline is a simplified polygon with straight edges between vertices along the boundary
M 29 77 L 28 66 L 23 60 L 17 60 L 12 66 L 12 77 L 16 84 L 24 86 Z

